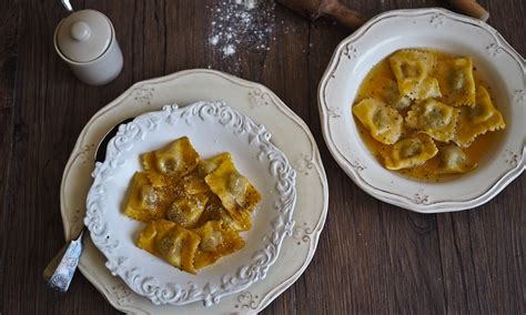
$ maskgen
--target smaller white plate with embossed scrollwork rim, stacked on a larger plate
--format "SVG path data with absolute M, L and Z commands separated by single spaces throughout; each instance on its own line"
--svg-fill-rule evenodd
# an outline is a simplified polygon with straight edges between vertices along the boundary
M 145 224 L 130 220 L 122 211 L 131 179 L 142 171 L 140 155 L 181 136 L 188 136 L 203 159 L 230 152 L 236 169 L 262 194 L 252 214 L 252 228 L 242 233 L 245 246 L 196 275 L 136 247 Z M 97 162 L 84 219 L 111 273 L 152 303 L 171 305 L 203 301 L 210 306 L 264 278 L 280 254 L 283 237 L 292 234 L 296 200 L 296 173 L 270 140 L 264 125 L 219 101 L 165 105 L 120 125 L 108 143 L 104 162 Z

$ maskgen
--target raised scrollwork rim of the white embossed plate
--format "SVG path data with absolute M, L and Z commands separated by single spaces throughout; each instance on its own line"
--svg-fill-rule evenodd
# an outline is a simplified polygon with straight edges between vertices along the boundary
M 257 160 L 267 164 L 267 171 L 274 180 L 273 190 L 277 193 L 272 212 L 276 215 L 269 222 L 272 228 L 265 232 L 263 246 L 253 253 L 249 264 L 241 265 L 235 272 L 221 275 L 221 282 L 206 281 L 200 287 L 193 281 L 182 281 L 166 275 L 159 278 L 146 266 L 138 266 L 127 251 L 119 250 L 122 240 L 114 236 L 112 225 L 107 217 L 108 211 L 115 209 L 105 205 L 107 194 L 112 191 L 112 180 L 118 169 L 130 159 L 127 152 L 159 130 L 168 131 L 193 125 L 202 121 L 221 126 L 234 135 L 236 141 L 247 140 L 247 145 L 256 148 Z M 163 129 L 164 128 L 164 129 Z M 87 199 L 84 224 L 91 232 L 91 240 L 108 258 L 107 267 L 113 275 L 119 275 L 135 293 L 146 296 L 154 304 L 184 305 L 203 301 L 205 306 L 219 303 L 221 297 L 240 292 L 252 283 L 264 278 L 269 267 L 280 254 L 283 237 L 292 234 L 294 221 L 292 214 L 296 200 L 294 169 L 285 154 L 270 142 L 271 134 L 262 124 L 254 123 L 249 116 L 230 108 L 222 101 L 196 102 L 183 108 L 165 105 L 162 111 L 146 112 L 132 122 L 121 124 L 114 138 L 110 140 L 104 162 L 95 162 L 94 177 Z M 265 194 L 266 191 L 263 192 Z M 265 211 L 270 213 L 270 211 Z M 256 224 L 256 223 L 254 223 Z M 115 240 L 117 238 L 117 240 Z M 148 255 L 143 253 L 144 255 Z M 195 275 L 194 277 L 199 277 Z M 170 282 L 168 281 L 169 278 Z

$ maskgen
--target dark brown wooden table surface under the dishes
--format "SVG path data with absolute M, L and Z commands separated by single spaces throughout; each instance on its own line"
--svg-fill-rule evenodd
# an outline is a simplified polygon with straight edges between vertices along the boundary
M 317 84 L 348 31 L 277 6 L 270 50 L 239 51 L 234 67 L 209 43 L 211 0 L 73 1 L 109 16 L 124 54 L 120 77 L 94 88 L 77 81 L 53 50 L 53 30 L 64 17 L 58 2 L 0 2 L 0 314 L 118 313 L 80 273 L 65 296 L 45 288 L 42 271 L 64 244 L 62 171 L 83 125 L 132 83 L 209 67 L 272 89 L 311 128 L 328 177 L 317 252 L 263 313 L 526 313 L 525 176 L 478 209 L 423 215 L 367 195 L 332 159 L 321 133 Z M 446 6 L 344 2 L 368 16 Z M 492 13 L 489 23 L 526 55 L 526 2 L 481 2 Z

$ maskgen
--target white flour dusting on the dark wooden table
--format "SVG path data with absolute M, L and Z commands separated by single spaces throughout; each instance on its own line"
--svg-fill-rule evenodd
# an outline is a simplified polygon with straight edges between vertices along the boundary
M 274 6 L 272 0 L 225 0 L 210 7 L 209 43 L 223 58 L 233 57 L 239 51 L 270 50 Z

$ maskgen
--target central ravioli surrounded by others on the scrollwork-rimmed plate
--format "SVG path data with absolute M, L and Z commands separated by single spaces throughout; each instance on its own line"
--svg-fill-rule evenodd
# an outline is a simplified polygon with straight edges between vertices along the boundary
M 168 209 L 166 217 L 183 227 L 195 227 L 208 201 L 206 194 L 185 195 L 172 203 Z

